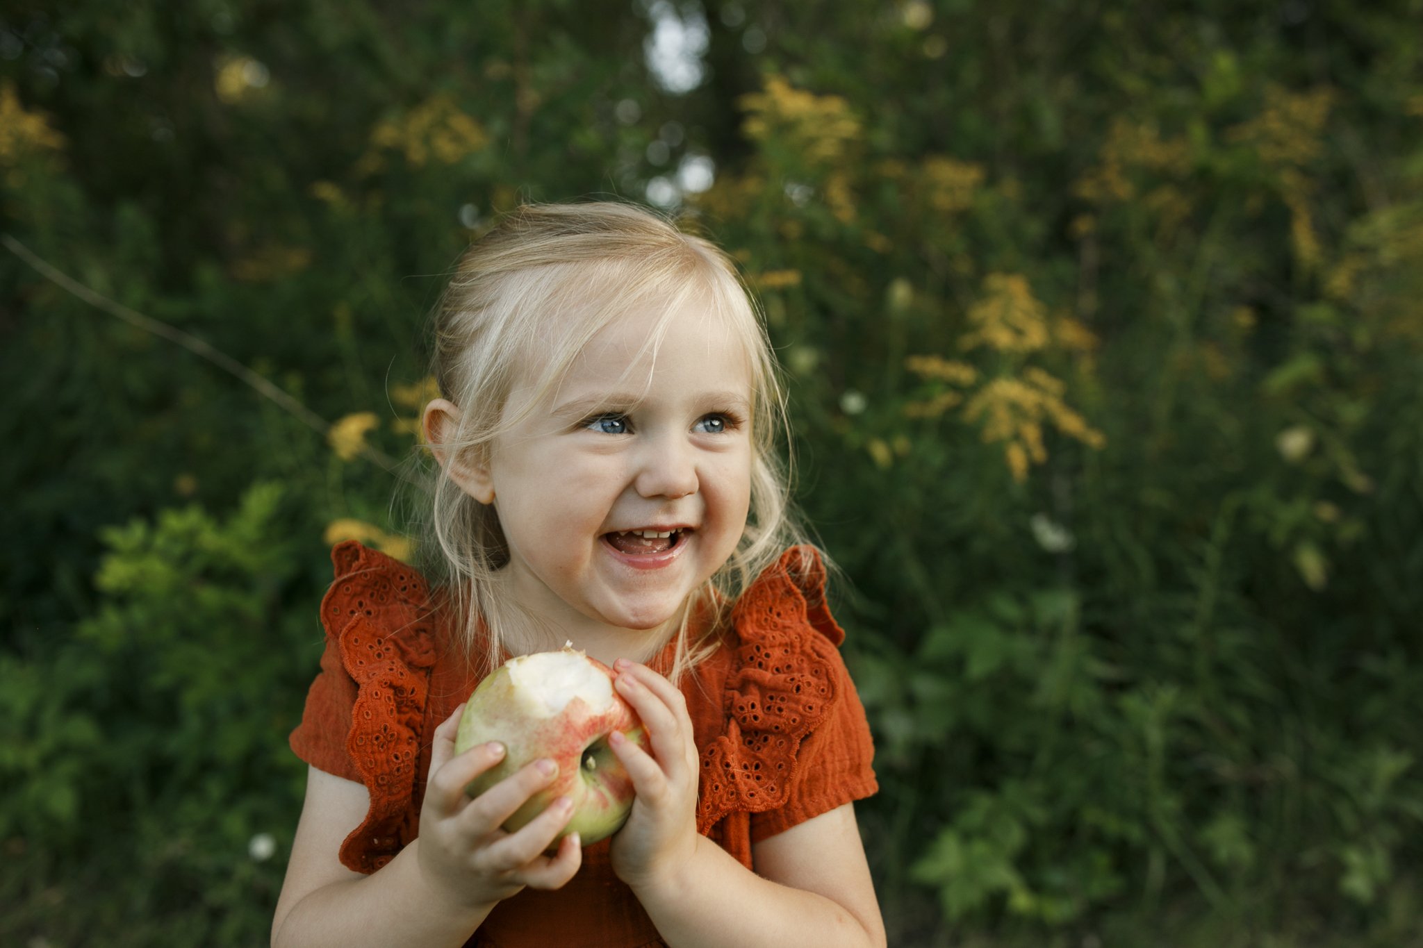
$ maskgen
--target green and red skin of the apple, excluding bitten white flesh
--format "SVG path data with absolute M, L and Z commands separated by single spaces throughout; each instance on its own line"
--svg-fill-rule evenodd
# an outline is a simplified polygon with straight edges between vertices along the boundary
M 595 658 L 583 659 L 612 679 L 606 665 Z M 583 846 L 612 836 L 628 822 L 635 793 L 632 777 L 609 746 L 608 735 L 622 731 L 629 740 L 647 748 L 638 712 L 616 691 L 612 698 L 603 711 L 573 698 L 551 718 L 527 716 L 512 695 L 508 667 L 495 669 L 470 695 L 454 749 L 462 753 L 478 743 L 497 740 L 507 753 L 498 766 L 475 777 L 465 793 L 480 796 L 534 760 L 549 758 L 558 763 L 558 776 L 515 810 L 504 829 L 517 831 L 555 799 L 568 796 L 573 802 L 573 816 L 554 840 L 555 847 L 571 833 L 578 833 Z

